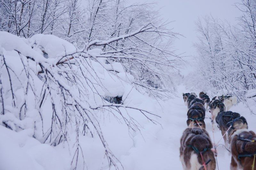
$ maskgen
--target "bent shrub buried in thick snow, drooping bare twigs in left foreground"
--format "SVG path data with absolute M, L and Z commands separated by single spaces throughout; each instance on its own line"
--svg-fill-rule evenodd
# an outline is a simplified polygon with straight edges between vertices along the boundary
M 131 110 L 138 110 L 138 114 L 155 124 L 154 118 L 159 116 L 150 107 L 140 107 L 142 101 L 148 100 L 145 99 L 148 88 L 138 84 L 134 76 L 125 71 L 122 62 L 111 59 L 129 58 L 144 62 L 146 67 L 147 60 L 119 55 L 119 50 L 109 54 L 95 46 L 105 46 L 154 29 L 145 25 L 120 37 L 91 41 L 82 49 L 54 35 L 36 34 L 25 39 L 0 32 L 0 124 L 25 132 L 41 143 L 66 144 L 72 155 L 69 160 L 72 168 L 85 166 L 84 143 L 80 136 L 98 138 L 109 166 L 119 169 L 122 166 L 102 133 L 101 117 L 113 114 L 129 131 L 137 131 L 140 124 L 131 116 Z M 155 95 L 155 90 L 163 96 L 167 92 L 152 88 L 149 89 L 151 95 Z M 116 96 L 122 96 L 122 103 L 106 100 L 106 97 Z

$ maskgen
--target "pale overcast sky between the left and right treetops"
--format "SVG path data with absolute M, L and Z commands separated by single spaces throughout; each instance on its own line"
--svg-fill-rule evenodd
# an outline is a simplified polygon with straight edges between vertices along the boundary
M 241 14 L 234 6 L 241 0 L 130 0 L 130 3 L 143 2 L 156 2 L 163 18 L 175 21 L 171 25 L 174 31 L 185 36 L 176 41 L 176 48 L 179 53 L 186 52 L 187 56 L 196 54 L 193 42 L 197 40 L 195 21 L 198 17 L 212 15 L 214 18 L 226 19 L 235 24 L 236 17 Z

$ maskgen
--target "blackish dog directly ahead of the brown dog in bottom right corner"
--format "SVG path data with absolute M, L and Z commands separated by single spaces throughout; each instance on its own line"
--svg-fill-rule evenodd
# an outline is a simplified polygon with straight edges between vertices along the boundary
M 218 116 L 215 118 L 215 120 L 219 126 L 222 136 L 228 131 L 230 126 L 232 129 L 234 128 L 233 127 L 234 125 L 236 126 L 236 128 L 240 128 L 240 127 L 246 128 L 245 127 L 246 125 L 240 125 L 238 127 L 237 123 L 247 124 L 244 117 L 241 117 L 239 113 L 232 112 L 232 111 L 220 112 Z M 242 120 L 242 121 L 236 122 L 238 120 Z M 229 132 L 231 132 L 231 130 Z M 225 145 L 228 146 L 229 141 L 228 141 L 227 135 L 223 136 L 223 139 L 225 141 Z

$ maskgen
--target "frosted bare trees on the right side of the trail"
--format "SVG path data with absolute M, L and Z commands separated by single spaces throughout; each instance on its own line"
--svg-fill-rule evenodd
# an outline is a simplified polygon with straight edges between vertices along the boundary
M 244 100 L 247 91 L 256 87 L 256 1 L 243 0 L 236 6 L 243 12 L 236 26 L 213 17 L 198 20 L 196 72 L 205 82 L 199 86 Z

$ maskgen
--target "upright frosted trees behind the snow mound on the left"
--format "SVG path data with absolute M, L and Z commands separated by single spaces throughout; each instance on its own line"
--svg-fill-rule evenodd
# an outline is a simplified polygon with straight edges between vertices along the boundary
M 100 45 L 97 48 L 102 53 L 98 54 L 108 56 L 109 63 L 122 63 L 123 69 L 135 77 L 137 89 L 144 87 L 160 98 L 170 94 L 166 91 L 166 95 L 160 95 L 156 89 L 166 89 L 165 81 L 172 81 L 170 72 L 177 71 L 180 63 L 171 50 L 177 33 L 167 29 L 168 24 L 161 21 L 152 4 L 127 5 L 119 0 L 0 1 L 0 31 L 20 37 L 52 34 L 84 48 L 95 40 L 133 35 Z M 136 33 L 140 29 L 140 34 Z

